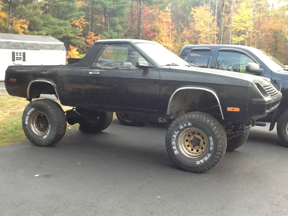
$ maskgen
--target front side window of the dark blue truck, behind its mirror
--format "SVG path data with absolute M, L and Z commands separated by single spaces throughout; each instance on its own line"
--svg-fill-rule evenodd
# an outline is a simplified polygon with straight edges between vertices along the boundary
M 247 55 L 238 52 L 220 51 L 217 57 L 216 69 L 248 73 L 245 68 L 250 62 L 254 61 Z

